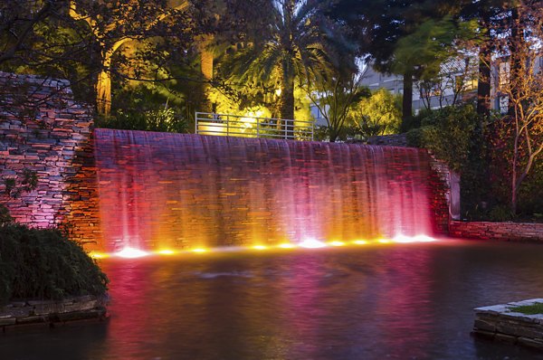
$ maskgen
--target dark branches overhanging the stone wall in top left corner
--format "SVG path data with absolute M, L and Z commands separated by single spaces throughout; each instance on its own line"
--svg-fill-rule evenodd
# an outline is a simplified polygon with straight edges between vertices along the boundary
M 40 74 L 44 78 L 68 79 L 79 99 L 87 100 L 94 53 L 92 42 L 86 36 L 86 31 L 71 19 L 68 6 L 67 0 L 2 2 L 0 69 Z M 5 94 L 17 93 L 16 86 L 9 84 L 5 84 L 0 91 Z M 24 90 L 20 91 L 19 98 L 25 98 L 25 94 Z M 18 105 L 30 111 L 43 101 L 33 99 Z

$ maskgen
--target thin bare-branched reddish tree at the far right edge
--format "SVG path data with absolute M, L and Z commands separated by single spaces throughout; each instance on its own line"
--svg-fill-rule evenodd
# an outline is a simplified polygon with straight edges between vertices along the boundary
M 517 212 L 520 186 L 543 152 L 543 8 L 540 1 L 522 0 L 513 17 L 518 34 L 496 39 L 498 96 L 509 103 L 510 206 Z M 503 64 L 501 66 L 500 64 Z

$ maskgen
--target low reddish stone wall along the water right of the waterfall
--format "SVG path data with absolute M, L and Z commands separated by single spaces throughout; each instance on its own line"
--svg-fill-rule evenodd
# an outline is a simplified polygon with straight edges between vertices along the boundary
M 458 238 L 543 242 L 543 223 L 452 221 L 449 224 L 449 233 Z

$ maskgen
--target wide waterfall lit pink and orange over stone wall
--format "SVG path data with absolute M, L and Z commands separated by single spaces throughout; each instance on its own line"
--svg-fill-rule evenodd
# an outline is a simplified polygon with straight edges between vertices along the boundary
M 97 129 L 106 247 L 432 234 L 424 150 Z

